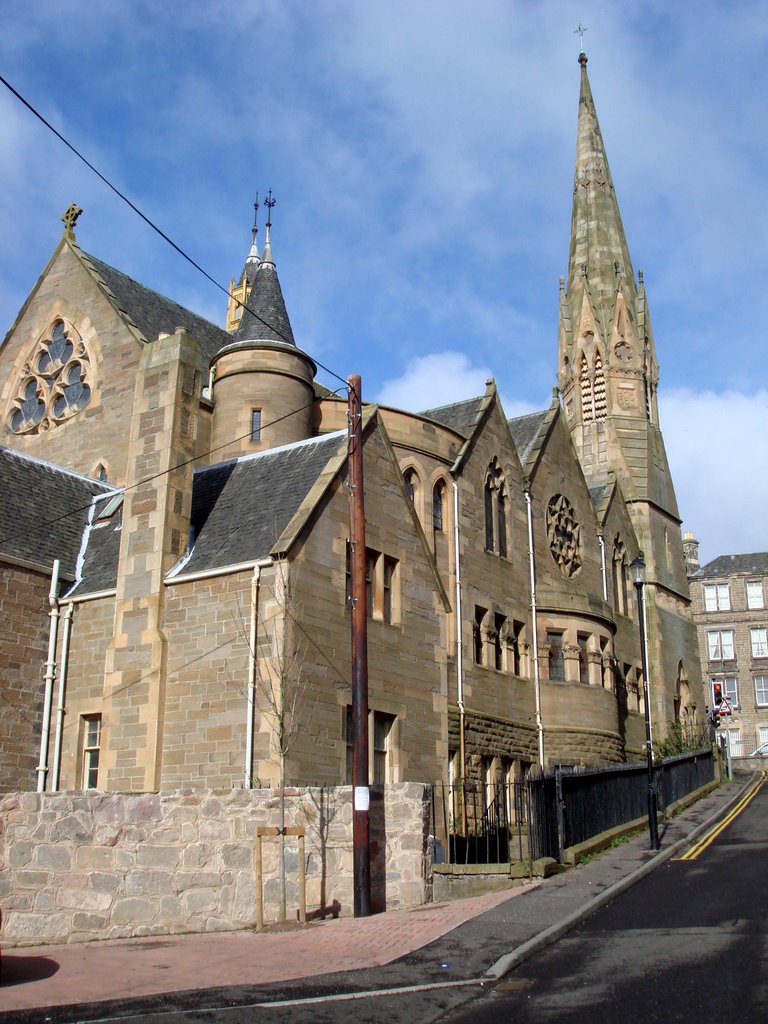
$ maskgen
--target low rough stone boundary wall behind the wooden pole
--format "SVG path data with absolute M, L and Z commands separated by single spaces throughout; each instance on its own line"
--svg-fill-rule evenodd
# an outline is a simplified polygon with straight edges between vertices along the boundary
M 372 794 L 372 908 L 430 896 L 429 790 Z M 3 945 L 215 932 L 256 920 L 256 829 L 279 823 L 275 791 L 179 790 L 0 799 Z M 351 913 L 351 787 L 287 791 L 306 829 L 307 912 Z M 287 843 L 287 906 L 298 908 L 298 843 Z M 264 921 L 276 920 L 278 840 L 264 839 Z

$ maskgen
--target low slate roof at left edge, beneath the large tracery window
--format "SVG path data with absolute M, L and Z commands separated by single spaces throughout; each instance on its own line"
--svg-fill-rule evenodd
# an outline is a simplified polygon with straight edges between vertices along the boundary
M 52 565 L 75 578 L 83 530 L 94 495 L 112 494 L 98 480 L 0 445 L 0 557 Z

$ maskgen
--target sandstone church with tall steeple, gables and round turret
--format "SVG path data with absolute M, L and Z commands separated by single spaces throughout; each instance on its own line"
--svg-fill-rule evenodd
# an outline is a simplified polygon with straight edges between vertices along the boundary
M 580 65 L 548 407 L 509 420 L 492 380 L 364 409 L 376 783 L 642 758 L 640 551 L 654 736 L 702 712 L 648 300 Z M 347 407 L 269 228 L 223 329 L 74 220 L 0 348 L 0 792 L 348 781 Z

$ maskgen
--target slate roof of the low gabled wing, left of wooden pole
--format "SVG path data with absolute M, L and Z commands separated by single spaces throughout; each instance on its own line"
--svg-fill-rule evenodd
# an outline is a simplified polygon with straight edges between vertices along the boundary
M 195 545 L 173 574 L 266 557 L 329 461 L 346 452 L 346 431 L 219 463 L 195 473 Z

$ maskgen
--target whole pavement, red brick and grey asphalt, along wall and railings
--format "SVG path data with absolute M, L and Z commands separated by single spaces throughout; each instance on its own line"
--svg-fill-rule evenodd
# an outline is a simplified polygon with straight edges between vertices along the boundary
M 725 783 L 662 822 L 655 853 L 643 831 L 585 864 L 503 892 L 285 931 L 8 949 L 0 1022 L 146 1019 L 493 984 L 684 852 L 753 778 Z

